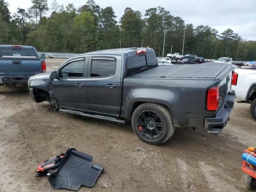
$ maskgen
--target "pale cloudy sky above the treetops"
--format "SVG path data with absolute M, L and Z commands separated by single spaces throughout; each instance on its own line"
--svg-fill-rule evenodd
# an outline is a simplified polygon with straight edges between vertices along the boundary
M 87 0 L 56 0 L 66 6 L 72 2 L 77 8 Z M 94 0 L 100 8 L 112 6 L 117 20 L 124 14 L 124 9 L 130 7 L 139 10 L 144 16 L 149 8 L 162 6 L 173 16 L 180 16 L 186 24 L 194 27 L 203 24 L 216 28 L 219 33 L 231 28 L 243 39 L 256 40 L 256 0 Z M 27 9 L 31 0 L 6 0 L 13 14 L 18 7 Z M 51 6 L 52 0 L 48 0 Z M 48 12 L 50 15 L 50 12 Z

